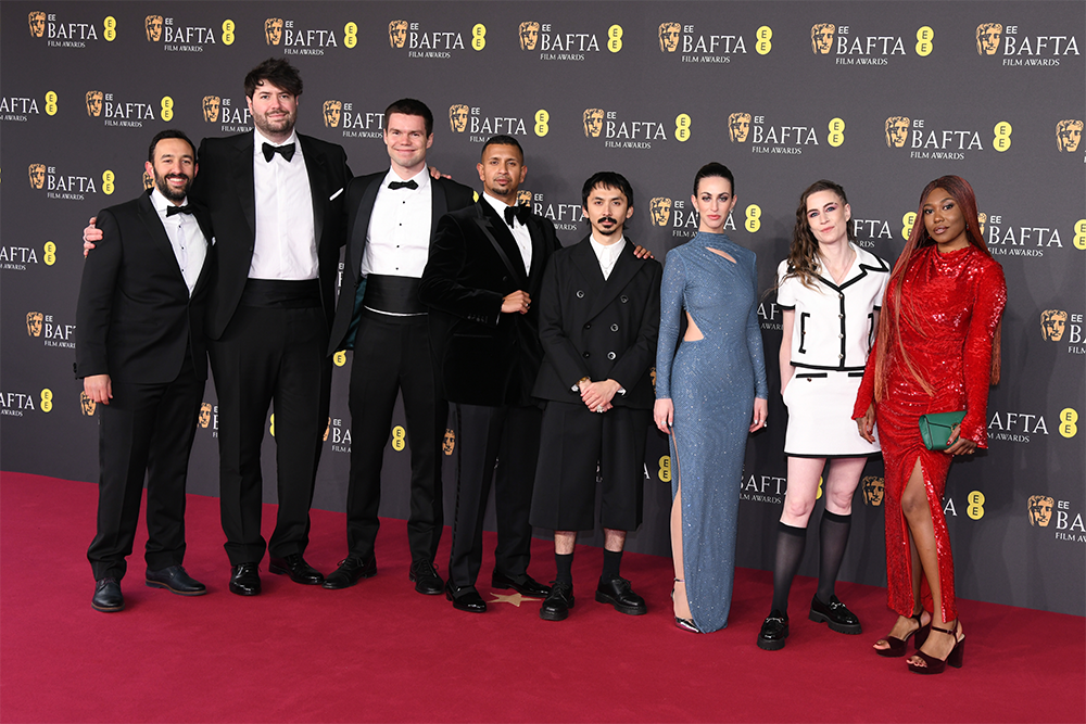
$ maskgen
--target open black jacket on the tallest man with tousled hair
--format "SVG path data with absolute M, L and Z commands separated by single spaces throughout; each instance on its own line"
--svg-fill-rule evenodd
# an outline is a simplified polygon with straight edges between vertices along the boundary
M 198 157 L 200 174 L 190 198 L 211 215 L 218 264 L 207 301 L 207 333 L 223 335 L 233 318 L 249 279 L 256 242 L 256 191 L 253 177 L 254 131 L 205 138 Z M 351 180 L 346 153 L 334 143 L 298 135 L 313 198 L 313 231 L 317 240 L 320 304 L 331 325 L 336 302 L 339 249 L 345 239 L 344 191 Z

